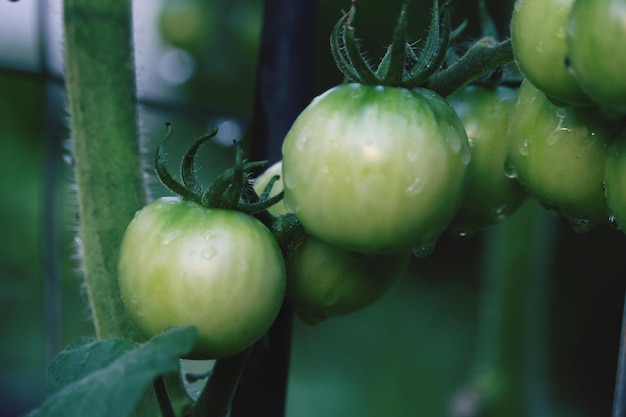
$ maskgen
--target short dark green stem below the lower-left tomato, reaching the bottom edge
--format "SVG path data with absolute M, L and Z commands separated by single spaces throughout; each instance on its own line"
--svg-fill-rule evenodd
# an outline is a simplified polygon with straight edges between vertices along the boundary
M 215 362 L 189 417 L 226 417 L 252 348 Z

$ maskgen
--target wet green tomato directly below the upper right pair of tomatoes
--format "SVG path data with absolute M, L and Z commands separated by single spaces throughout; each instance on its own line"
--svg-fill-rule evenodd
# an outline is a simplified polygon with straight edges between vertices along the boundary
M 586 109 L 555 106 L 524 81 L 508 130 L 517 179 L 545 206 L 579 224 L 608 221 L 603 192 L 612 126 Z

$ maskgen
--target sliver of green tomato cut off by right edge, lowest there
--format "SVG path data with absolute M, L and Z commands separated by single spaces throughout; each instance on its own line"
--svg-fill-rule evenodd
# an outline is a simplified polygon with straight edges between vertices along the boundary
M 609 213 L 626 233 L 626 131 L 609 147 L 604 180 Z

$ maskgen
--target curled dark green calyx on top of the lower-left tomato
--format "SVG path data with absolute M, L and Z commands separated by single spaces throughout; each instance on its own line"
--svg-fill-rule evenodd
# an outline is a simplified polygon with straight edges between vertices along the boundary
M 154 156 L 154 167 L 159 180 L 170 191 L 184 200 L 192 201 L 207 208 L 239 210 L 248 214 L 257 214 L 267 210 L 283 198 L 282 193 L 269 197 L 266 190 L 259 197 L 253 190 L 249 175 L 255 168 L 262 167 L 267 161 L 249 162 L 243 157 L 240 144 L 235 141 L 235 162 L 222 172 L 206 189 L 198 180 L 195 169 L 196 154 L 203 143 L 217 134 L 217 128 L 198 137 L 185 153 L 180 164 L 180 177 L 177 180 L 167 166 L 165 145 L 172 136 L 172 126 L 166 123 L 165 135 Z M 275 181 L 275 180 L 274 180 Z M 270 185 L 273 181 L 270 183 Z

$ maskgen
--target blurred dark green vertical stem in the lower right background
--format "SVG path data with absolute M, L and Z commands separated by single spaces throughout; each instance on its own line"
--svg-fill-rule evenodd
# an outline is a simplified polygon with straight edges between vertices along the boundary
M 527 204 L 485 236 L 471 390 L 486 416 L 550 415 L 545 343 L 554 234 L 554 219 Z

